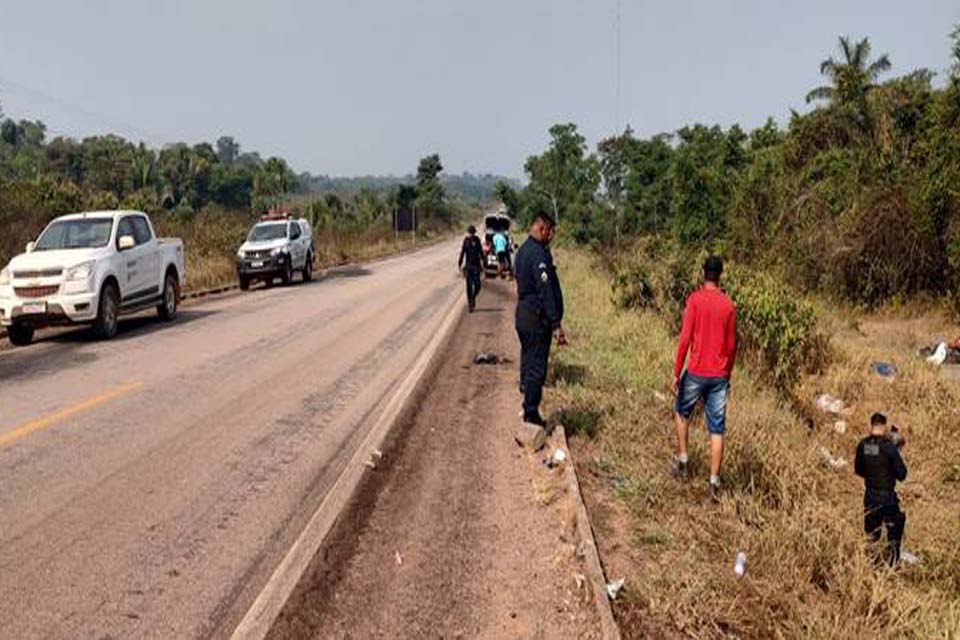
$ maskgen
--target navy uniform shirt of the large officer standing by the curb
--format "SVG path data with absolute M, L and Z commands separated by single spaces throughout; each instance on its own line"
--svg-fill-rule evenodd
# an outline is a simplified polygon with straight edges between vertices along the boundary
M 517 250 L 517 328 L 553 330 L 563 322 L 563 291 L 550 250 L 532 237 Z

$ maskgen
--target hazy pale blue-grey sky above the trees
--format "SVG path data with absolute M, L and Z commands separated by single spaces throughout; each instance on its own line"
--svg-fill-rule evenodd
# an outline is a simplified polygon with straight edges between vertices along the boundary
M 785 122 L 837 36 L 892 73 L 948 64 L 957 0 L 0 0 L 0 102 L 54 134 L 233 135 L 298 171 L 522 175 L 546 129 L 591 145 Z

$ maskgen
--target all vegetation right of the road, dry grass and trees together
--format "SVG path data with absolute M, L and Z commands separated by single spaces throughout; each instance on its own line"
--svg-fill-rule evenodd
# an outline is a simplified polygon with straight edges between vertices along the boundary
M 592 152 L 558 124 L 527 185 L 497 186 L 521 221 L 560 223 L 572 346 L 550 397 L 607 575 L 626 578 L 626 637 L 960 637 L 960 384 L 917 353 L 960 335 L 960 26 L 950 42 L 946 74 L 889 78 L 887 55 L 841 38 L 785 127 L 627 128 Z M 676 336 L 709 253 L 742 345 L 718 506 L 702 426 L 698 481 L 669 474 Z M 897 572 L 868 560 L 852 470 L 874 411 L 909 434 L 919 562 Z

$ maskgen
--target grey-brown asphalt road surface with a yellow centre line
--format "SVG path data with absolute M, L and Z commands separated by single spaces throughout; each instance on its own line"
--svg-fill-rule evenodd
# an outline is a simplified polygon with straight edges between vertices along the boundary
M 229 635 L 460 292 L 456 250 L 0 352 L 0 637 Z

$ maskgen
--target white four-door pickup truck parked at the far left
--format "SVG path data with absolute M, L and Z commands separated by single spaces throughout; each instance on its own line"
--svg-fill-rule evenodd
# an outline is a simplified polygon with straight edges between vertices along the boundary
M 156 306 L 172 320 L 185 275 L 183 243 L 157 238 L 145 213 L 62 216 L 0 271 L 0 323 L 18 346 L 58 324 L 92 324 L 112 338 L 124 313 Z

